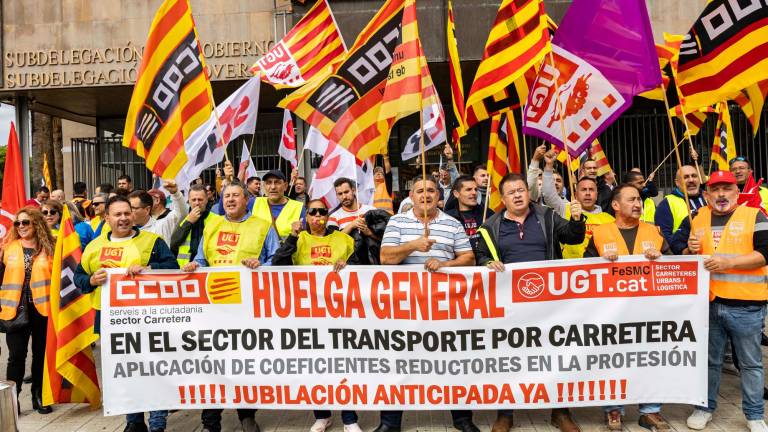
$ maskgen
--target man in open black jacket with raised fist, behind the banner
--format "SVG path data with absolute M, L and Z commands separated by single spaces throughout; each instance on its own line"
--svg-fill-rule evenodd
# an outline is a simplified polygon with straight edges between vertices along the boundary
M 571 219 L 561 218 L 549 207 L 531 202 L 528 182 L 520 174 L 507 174 L 499 184 L 505 209 L 490 217 L 478 230 L 477 264 L 503 272 L 504 264 L 562 259 L 560 244 L 584 241 L 586 226 L 581 204 L 570 204 Z M 499 410 L 492 432 L 508 432 L 513 412 Z M 578 425 L 567 408 L 552 410 L 552 424 L 562 432 L 575 432 Z

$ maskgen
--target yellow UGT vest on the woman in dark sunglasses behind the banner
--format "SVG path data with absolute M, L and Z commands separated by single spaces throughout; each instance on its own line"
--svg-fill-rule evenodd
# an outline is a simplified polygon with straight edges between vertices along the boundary
M 291 258 L 295 265 L 328 265 L 348 260 L 354 251 L 355 240 L 341 231 L 333 231 L 325 237 L 301 231 Z

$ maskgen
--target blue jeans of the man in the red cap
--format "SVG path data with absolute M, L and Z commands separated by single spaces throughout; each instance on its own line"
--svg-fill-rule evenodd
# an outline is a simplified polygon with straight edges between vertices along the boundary
M 717 408 L 720 390 L 720 371 L 728 338 L 733 342 L 741 368 L 741 409 L 747 420 L 762 420 L 763 405 L 763 357 L 760 338 L 765 324 L 766 307 L 728 306 L 709 304 L 709 376 L 706 407 L 712 412 Z

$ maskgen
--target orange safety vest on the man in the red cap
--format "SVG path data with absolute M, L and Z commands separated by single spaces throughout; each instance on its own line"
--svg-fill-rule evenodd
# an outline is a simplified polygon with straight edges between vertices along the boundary
M 739 206 L 725 224 L 720 242 L 714 247 L 712 238 L 712 210 L 699 209 L 693 219 L 691 232 L 701 240 L 701 254 L 733 257 L 754 252 L 752 234 L 755 219 L 760 209 Z M 715 297 L 733 300 L 768 300 L 768 267 L 752 270 L 728 270 L 725 273 L 710 273 L 709 300 Z

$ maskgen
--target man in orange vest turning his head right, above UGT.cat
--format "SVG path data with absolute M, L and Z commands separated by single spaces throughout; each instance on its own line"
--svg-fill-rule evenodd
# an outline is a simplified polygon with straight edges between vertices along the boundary
M 655 225 L 643 222 L 643 200 L 637 185 L 622 184 L 613 189 L 611 206 L 616 221 L 594 228 L 584 258 L 603 257 L 615 261 L 623 255 L 643 255 L 654 260 L 672 251 Z M 608 430 L 623 430 L 623 406 L 604 407 Z M 661 416 L 661 404 L 640 404 L 638 424 L 648 430 L 670 430 L 671 426 Z

